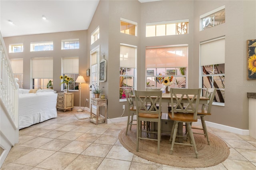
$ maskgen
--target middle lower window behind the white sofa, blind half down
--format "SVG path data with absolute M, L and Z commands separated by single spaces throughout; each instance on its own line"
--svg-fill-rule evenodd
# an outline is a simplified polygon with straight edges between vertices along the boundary
M 31 75 L 33 89 L 52 89 L 53 58 L 32 58 Z

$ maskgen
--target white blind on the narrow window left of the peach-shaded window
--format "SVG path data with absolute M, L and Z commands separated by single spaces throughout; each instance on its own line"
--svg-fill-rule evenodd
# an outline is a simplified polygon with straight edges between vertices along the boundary
M 136 68 L 136 47 L 120 45 L 120 67 Z

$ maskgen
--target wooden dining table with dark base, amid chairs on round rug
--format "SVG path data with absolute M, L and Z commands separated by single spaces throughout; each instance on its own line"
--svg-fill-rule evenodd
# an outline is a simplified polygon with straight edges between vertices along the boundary
M 192 98 L 191 95 L 188 95 L 188 97 Z M 132 98 L 134 99 L 135 96 L 133 95 Z M 172 96 L 172 98 L 174 99 L 174 102 L 175 102 L 176 101 L 175 97 Z M 184 102 L 187 101 L 186 98 L 182 99 L 182 101 L 183 100 L 184 100 Z M 209 100 L 209 98 L 200 96 L 199 104 L 207 104 L 208 100 Z M 183 103 L 182 101 L 181 101 L 181 103 Z M 170 103 L 171 103 L 170 93 L 162 93 L 162 111 L 163 111 L 163 113 L 162 113 L 162 117 L 161 117 L 161 133 L 164 133 L 164 134 L 171 134 L 172 125 L 174 123 L 174 121 L 170 120 L 170 118 L 168 117 L 168 106 Z M 165 113 L 165 112 L 167 112 L 167 113 Z M 157 131 L 157 123 L 150 124 L 150 130 Z M 179 123 L 178 124 L 178 135 L 182 136 L 182 134 L 183 134 L 183 124 Z M 150 133 L 150 138 L 153 138 L 152 135 L 154 135 L 154 134 Z M 179 142 L 183 142 L 183 138 L 179 138 Z

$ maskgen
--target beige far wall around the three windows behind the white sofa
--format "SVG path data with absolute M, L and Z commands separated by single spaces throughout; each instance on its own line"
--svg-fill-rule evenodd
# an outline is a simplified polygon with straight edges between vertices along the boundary
M 80 48 L 61 50 L 61 40 L 79 38 Z M 53 89 L 60 91 L 60 75 L 61 75 L 61 57 L 79 57 L 79 75 L 84 76 L 86 82 L 90 82 L 86 77 L 86 53 L 87 53 L 87 30 L 58 32 L 50 34 L 36 34 L 29 36 L 16 36 L 4 38 L 7 51 L 9 51 L 9 44 L 23 43 L 24 49 L 22 53 L 8 53 L 10 59 L 23 58 L 23 88 L 31 89 L 30 79 L 30 59 L 35 57 L 53 57 Z M 30 42 L 53 41 L 53 51 L 34 51 L 30 52 Z M 87 83 L 82 84 L 82 92 L 86 91 Z M 83 93 L 81 96 L 81 106 L 84 106 L 86 98 L 89 98 L 88 93 Z M 74 92 L 74 106 L 79 107 L 79 93 Z M 88 107 L 88 103 L 86 103 Z

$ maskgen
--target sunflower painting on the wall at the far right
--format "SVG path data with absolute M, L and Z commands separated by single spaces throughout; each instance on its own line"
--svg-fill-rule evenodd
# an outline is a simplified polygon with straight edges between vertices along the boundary
M 247 40 L 247 80 L 256 79 L 256 40 Z

